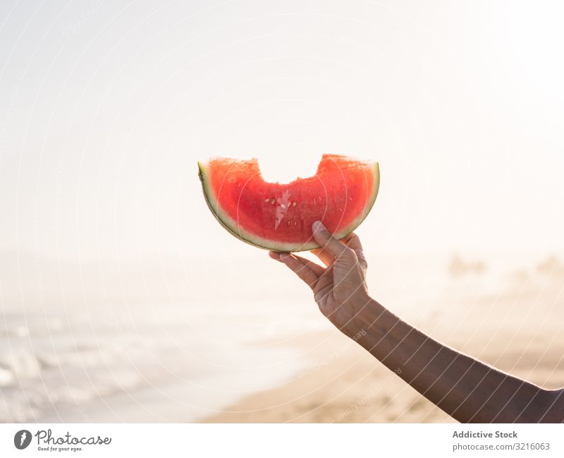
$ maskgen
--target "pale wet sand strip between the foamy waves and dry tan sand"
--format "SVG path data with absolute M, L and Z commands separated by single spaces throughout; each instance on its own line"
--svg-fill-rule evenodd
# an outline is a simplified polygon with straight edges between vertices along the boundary
M 247 351 L 242 351 L 246 349 Z M 239 368 L 230 373 L 209 373 L 183 380 L 149 382 L 128 390 L 94 397 L 82 404 L 67 404 L 42 411 L 27 422 L 37 423 L 202 423 L 233 403 L 264 390 L 276 390 L 305 370 L 310 361 L 295 346 L 278 343 L 246 344 L 238 350 Z M 269 366 L 278 354 L 291 363 Z M 261 358 L 261 359 L 257 359 Z M 262 361 L 262 366 L 252 366 Z M 234 363 L 235 364 L 235 363 Z M 251 366 L 245 366 L 251 364 Z M 267 368 L 268 370 L 265 370 Z M 226 379 L 229 382 L 226 388 Z

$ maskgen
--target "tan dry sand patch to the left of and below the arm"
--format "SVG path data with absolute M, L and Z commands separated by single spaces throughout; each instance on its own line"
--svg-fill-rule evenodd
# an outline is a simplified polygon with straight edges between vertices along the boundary
M 316 363 L 274 390 L 208 418 L 213 423 L 448 422 L 450 417 L 338 333 L 315 336 Z M 303 340 L 303 339 L 302 339 Z M 304 344 L 304 342 L 296 342 Z

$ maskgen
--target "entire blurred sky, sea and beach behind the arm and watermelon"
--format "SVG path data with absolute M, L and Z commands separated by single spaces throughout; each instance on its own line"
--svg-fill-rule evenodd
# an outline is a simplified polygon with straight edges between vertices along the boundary
M 0 421 L 451 421 L 207 210 L 374 159 L 372 296 L 564 385 L 559 1 L 3 1 Z

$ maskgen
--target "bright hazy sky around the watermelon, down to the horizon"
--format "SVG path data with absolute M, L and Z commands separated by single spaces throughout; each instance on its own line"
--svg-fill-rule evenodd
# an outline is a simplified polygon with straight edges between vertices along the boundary
M 2 1 L 0 249 L 244 255 L 197 159 L 379 160 L 372 251 L 564 252 L 559 1 Z

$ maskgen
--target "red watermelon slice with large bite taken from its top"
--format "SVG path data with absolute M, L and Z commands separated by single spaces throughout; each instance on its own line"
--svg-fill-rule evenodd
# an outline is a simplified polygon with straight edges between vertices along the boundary
M 312 223 L 338 239 L 367 217 L 380 185 L 378 162 L 340 155 L 321 157 L 317 174 L 291 183 L 262 179 L 257 159 L 216 157 L 198 162 L 209 210 L 231 234 L 274 251 L 318 248 Z

